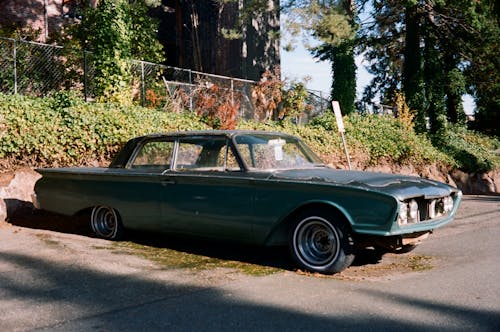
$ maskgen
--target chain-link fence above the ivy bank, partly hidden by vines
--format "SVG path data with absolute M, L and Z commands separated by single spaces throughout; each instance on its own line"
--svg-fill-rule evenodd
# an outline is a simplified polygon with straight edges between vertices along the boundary
M 60 90 L 78 91 L 85 101 L 95 98 L 93 54 L 81 49 L 63 48 L 0 37 L 0 92 L 42 97 Z M 217 85 L 239 103 L 239 116 L 254 118 L 252 89 L 257 82 L 207 74 L 160 64 L 133 60 L 132 97 L 134 102 L 180 111 L 194 110 L 200 87 Z M 309 91 L 311 109 L 297 118 L 306 123 L 328 108 L 319 91 Z

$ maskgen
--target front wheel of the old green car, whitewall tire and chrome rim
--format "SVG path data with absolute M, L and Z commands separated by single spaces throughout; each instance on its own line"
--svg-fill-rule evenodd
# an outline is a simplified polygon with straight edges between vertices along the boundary
M 333 210 L 306 211 L 290 229 L 289 248 L 301 268 L 322 274 L 338 273 L 354 260 L 354 243 L 344 218 Z

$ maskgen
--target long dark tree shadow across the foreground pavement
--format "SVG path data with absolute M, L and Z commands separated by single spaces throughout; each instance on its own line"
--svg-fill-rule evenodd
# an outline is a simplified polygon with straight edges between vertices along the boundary
M 498 313 L 358 287 L 369 300 L 356 310 L 309 312 L 277 305 L 266 296 L 247 300 L 210 286 L 156 280 L 141 274 L 111 274 L 77 264 L 4 252 L 0 274 L 5 314 L 0 329 L 37 331 L 498 331 Z M 36 276 L 36 277 L 34 277 Z M 52 285 L 47 287 L 47 285 Z M 55 286 L 57 285 L 57 287 Z M 297 285 L 299 287 L 300 285 Z M 260 286 L 262 287 L 262 286 Z M 261 288 L 273 292 L 272 288 Z M 293 288 L 289 290 L 292 296 Z M 333 305 L 339 299 L 332 299 Z M 383 306 L 406 308 L 403 319 Z M 342 309 L 342 310 L 341 310 Z M 417 317 L 432 311 L 439 321 Z M 360 313 L 369 312 L 370 315 Z M 416 316 L 418 315 L 418 316 Z

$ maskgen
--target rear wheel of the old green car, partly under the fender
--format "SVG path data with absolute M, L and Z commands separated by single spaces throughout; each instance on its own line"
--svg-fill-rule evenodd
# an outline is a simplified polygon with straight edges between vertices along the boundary
M 123 236 L 123 224 L 118 212 L 109 206 L 96 206 L 90 216 L 95 235 L 107 240 L 119 240 Z

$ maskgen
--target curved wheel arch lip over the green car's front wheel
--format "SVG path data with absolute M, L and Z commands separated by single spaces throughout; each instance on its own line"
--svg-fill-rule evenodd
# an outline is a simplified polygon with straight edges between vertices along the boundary
M 330 210 L 332 214 L 336 214 L 340 217 L 340 221 L 349 227 L 352 231 L 353 220 L 350 214 L 340 205 L 330 202 L 330 201 L 309 201 L 297 206 L 294 210 L 286 214 L 276 226 L 271 230 L 269 235 L 266 237 L 264 244 L 266 246 L 284 245 L 288 243 L 288 233 L 290 231 L 290 225 L 293 220 L 300 214 L 309 210 L 319 210 L 326 209 Z

